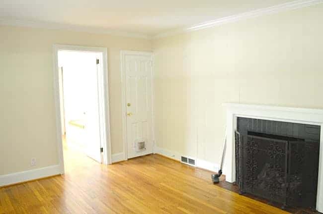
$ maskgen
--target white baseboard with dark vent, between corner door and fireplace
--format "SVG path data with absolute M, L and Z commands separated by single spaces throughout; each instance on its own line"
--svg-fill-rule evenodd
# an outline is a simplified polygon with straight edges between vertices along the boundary
M 166 157 L 174 159 L 174 160 L 178 160 L 178 161 L 181 160 L 181 158 L 180 158 L 181 156 L 184 156 L 187 158 L 192 158 L 195 160 L 196 167 L 207 169 L 207 170 L 214 171 L 214 172 L 219 171 L 219 164 L 218 163 L 213 163 L 213 162 L 209 162 L 209 161 L 202 160 L 202 159 L 196 159 L 196 158 L 193 158 L 193 157 L 190 157 L 187 155 L 183 155 L 183 154 L 180 154 L 175 151 L 166 150 L 166 149 L 163 149 L 160 147 L 155 147 L 155 153 L 166 156 Z

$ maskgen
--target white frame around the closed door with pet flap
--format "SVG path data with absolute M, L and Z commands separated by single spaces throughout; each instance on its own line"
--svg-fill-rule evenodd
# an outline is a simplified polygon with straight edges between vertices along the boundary
M 125 75 L 125 56 L 126 55 L 143 55 L 150 56 L 152 63 L 152 141 L 153 153 L 155 154 L 155 87 L 154 87 L 154 53 L 140 51 L 120 51 L 120 70 L 121 70 L 121 92 L 122 92 L 122 137 L 123 137 L 123 160 L 128 160 L 128 145 L 127 145 L 127 109 L 126 109 L 126 75 Z

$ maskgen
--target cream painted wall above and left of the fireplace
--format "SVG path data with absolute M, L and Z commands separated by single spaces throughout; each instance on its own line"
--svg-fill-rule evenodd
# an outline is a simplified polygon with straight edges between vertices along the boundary
M 323 108 L 322 23 L 318 4 L 153 41 L 157 146 L 218 164 L 223 103 Z

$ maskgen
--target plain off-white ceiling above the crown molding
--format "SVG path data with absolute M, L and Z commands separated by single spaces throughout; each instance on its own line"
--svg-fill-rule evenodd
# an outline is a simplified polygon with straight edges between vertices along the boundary
M 291 0 L 0 0 L 0 19 L 147 36 Z M 242 3 L 243 2 L 243 3 Z

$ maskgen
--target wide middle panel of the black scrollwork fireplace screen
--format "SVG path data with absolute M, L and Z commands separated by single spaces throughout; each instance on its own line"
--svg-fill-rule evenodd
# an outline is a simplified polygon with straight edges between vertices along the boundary
M 287 141 L 242 136 L 242 192 L 286 201 Z

